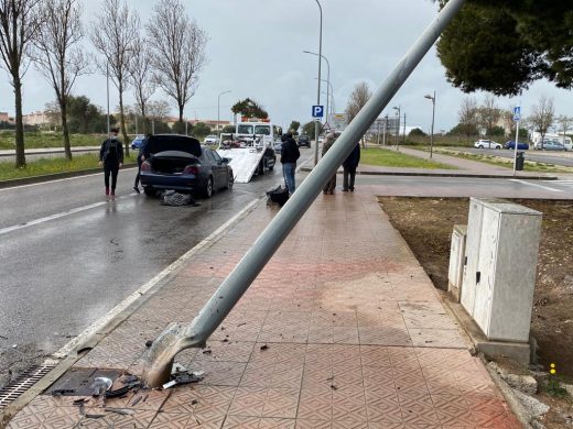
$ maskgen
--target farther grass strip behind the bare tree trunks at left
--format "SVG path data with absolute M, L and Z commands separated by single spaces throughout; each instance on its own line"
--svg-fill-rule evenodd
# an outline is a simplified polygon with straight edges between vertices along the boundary
M 74 146 L 99 146 L 106 139 L 104 134 L 71 134 L 69 143 Z M 25 148 L 64 147 L 62 133 L 26 132 L 24 133 Z M 0 150 L 14 148 L 13 131 L 0 132 Z

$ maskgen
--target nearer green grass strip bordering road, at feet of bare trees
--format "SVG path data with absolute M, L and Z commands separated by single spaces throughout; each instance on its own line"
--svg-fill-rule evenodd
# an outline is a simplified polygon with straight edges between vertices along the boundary
M 132 164 L 134 156 L 126 157 L 126 164 Z M 98 155 L 75 155 L 72 161 L 63 157 L 40 158 L 30 161 L 24 168 L 15 168 L 13 161 L 0 163 L 0 180 L 45 176 L 57 173 L 79 172 L 83 169 L 98 168 Z

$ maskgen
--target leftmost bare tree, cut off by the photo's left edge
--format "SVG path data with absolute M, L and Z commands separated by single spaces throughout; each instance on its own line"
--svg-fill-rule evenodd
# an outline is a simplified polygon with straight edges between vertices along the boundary
M 28 69 L 31 42 L 40 26 L 40 0 L 0 0 L 1 66 L 10 74 L 15 105 L 15 167 L 25 166 L 22 121 L 22 78 Z

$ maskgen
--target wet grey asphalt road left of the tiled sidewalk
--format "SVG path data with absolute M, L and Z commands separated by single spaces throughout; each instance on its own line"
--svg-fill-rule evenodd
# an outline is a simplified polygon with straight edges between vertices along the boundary
M 278 163 L 199 207 L 166 207 L 134 194 L 134 176 L 120 172 L 115 201 L 101 174 L 0 189 L 0 386 L 282 183 Z

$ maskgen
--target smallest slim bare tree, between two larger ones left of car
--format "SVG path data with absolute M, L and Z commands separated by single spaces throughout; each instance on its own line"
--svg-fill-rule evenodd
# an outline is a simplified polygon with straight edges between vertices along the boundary
M 133 58 L 129 66 L 131 84 L 138 105 L 137 111 L 143 120 L 143 133 L 148 133 L 147 105 L 150 97 L 155 92 L 155 82 L 151 79 L 151 53 L 147 48 L 147 43 L 140 40 L 133 48 Z

